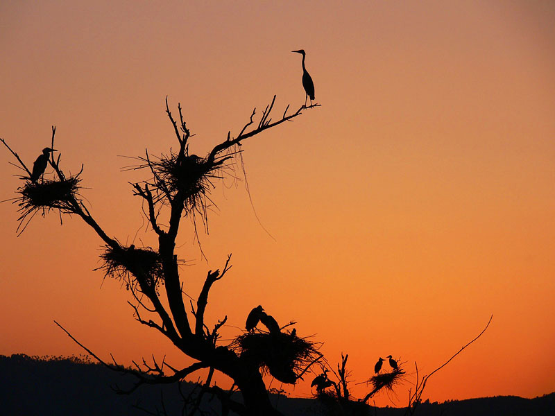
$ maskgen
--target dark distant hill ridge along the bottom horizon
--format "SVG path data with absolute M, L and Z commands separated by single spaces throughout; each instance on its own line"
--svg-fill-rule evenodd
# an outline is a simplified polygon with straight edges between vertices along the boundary
M 129 388 L 134 377 L 108 370 L 87 358 L 0 355 L 1 416 L 96 416 L 182 415 L 182 397 L 176 385 L 142 385 L 130 395 L 117 395 L 110 386 Z M 188 386 L 189 389 L 193 384 Z M 187 390 L 187 389 L 185 389 Z M 208 395 L 207 395 L 208 396 Z M 239 399 L 239 397 L 237 398 Z M 272 396 L 278 410 L 289 416 L 329 415 L 330 410 L 314 399 Z M 217 400 L 203 400 L 202 408 L 220 410 Z M 144 409 L 144 410 L 142 410 Z M 402 416 L 404 409 L 364 408 L 361 416 Z M 515 396 L 484 397 L 441 404 L 422 403 L 416 415 L 442 416 L 553 416 L 555 392 L 536 399 Z M 231 416 L 231 415 L 230 415 Z

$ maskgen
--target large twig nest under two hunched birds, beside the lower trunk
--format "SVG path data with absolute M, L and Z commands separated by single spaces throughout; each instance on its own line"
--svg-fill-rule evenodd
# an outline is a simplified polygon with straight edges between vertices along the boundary
M 232 348 L 289 384 L 296 383 L 300 373 L 320 356 L 314 343 L 291 333 L 244 333 L 235 338 Z

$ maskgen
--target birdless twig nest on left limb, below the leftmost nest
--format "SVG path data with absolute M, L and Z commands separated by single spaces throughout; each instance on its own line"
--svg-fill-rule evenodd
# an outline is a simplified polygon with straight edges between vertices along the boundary
M 164 282 L 162 259 L 150 247 L 135 248 L 130 245 L 114 250 L 107 246 L 100 257 L 104 263 L 99 269 L 104 271 L 105 276 L 124 281 L 130 290 L 135 289 L 137 282 L 143 292 L 156 291 L 157 286 Z

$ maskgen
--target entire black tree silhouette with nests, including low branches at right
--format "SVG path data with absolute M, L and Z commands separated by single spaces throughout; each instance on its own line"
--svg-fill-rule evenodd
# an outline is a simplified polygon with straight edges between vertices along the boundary
M 225 140 L 216 144 L 209 153 L 201 157 L 189 153 L 191 131 L 183 118 L 181 105 L 178 104 L 179 117 L 176 121 L 166 98 L 166 112 L 173 126 L 178 150 L 170 149 L 169 153 L 160 156 L 149 155 L 146 151 L 144 156 L 136 157 L 137 165 L 128 167 L 148 172 L 148 179 L 131 183 L 131 186 L 133 195 L 144 201 L 146 209 L 143 213 L 152 232 L 157 236 L 155 248 L 135 247 L 133 244 L 123 245 L 118 239 L 110 237 L 96 222 L 80 195 L 83 166 L 76 175 L 67 176 L 60 167 L 60 153 L 57 157 L 54 155 L 58 151 L 54 148 L 55 127 L 52 127 L 51 146 L 42 150 L 42 155 L 37 158 L 33 167 L 33 173 L 6 141 L 0 138 L 24 171 L 20 175 L 24 184 L 17 189 L 19 196 L 13 200 L 19 206 L 17 232 L 21 234 L 35 214 L 41 211 L 43 215 L 49 211 L 57 211 L 60 215 L 79 216 L 103 241 L 104 250 L 100 256 L 103 264 L 100 269 L 105 276 L 123 281 L 135 301 L 128 303 L 133 308 L 136 320 L 162 333 L 182 353 L 196 361 L 180 369 L 171 367 L 164 360 L 158 363 L 154 357 L 150 364 L 144 359 L 142 365 L 134 362 L 133 369 L 115 362 L 106 363 L 55 321 L 71 339 L 103 365 L 136 377 L 137 381 L 131 388 L 117 389 L 119 392 L 132 392 L 144 384 L 175 383 L 198 370 L 207 369 L 207 378 L 200 386 L 200 392 L 194 397 L 184 397 L 185 405 L 190 405 L 188 415 L 193 415 L 199 410 L 200 401 L 207 392 L 219 399 L 223 415 L 228 414 L 230 410 L 239 415 L 280 415 L 271 406 L 263 380 L 264 373 L 268 372 L 283 383 L 295 384 L 312 365 L 318 363 L 323 374 L 317 376 L 312 383 L 313 387 L 316 387 L 315 396 L 332 412 L 339 411 L 341 415 L 348 415 L 364 413 L 366 403 L 377 392 L 393 391 L 395 386 L 404 381 L 406 374 L 402 367 L 404 363 L 397 363 L 390 355 L 388 358 L 390 358 L 391 371 L 379 372 L 377 368 L 376 374 L 363 382 L 370 388 L 368 394 L 363 399 L 354 399 L 348 388 L 350 378 L 350 372 L 346 368 L 348 355 L 341 355 L 341 363 L 337 364 L 337 371 L 335 371 L 327 365 L 315 343 L 297 336 L 296 329 L 291 331 L 287 329 L 294 322 L 280 327 L 275 318 L 266 313 L 260 305 L 255 307 L 248 316 L 244 333 L 227 345 L 221 343 L 219 330 L 227 322 L 227 315 L 218 322 L 210 323 L 205 320 L 205 311 L 212 286 L 232 267 L 231 254 L 228 255 L 221 270 L 207 271 L 203 286 L 196 298 L 196 304 L 189 301 L 190 309 L 187 309 L 184 297 L 185 279 L 180 275 L 179 268 L 182 260 L 178 258 L 175 250 L 182 220 L 191 219 L 196 241 L 198 241 L 198 225 L 203 225 L 203 228 L 207 229 L 207 213 L 213 204 L 210 191 L 216 187 L 216 181 L 225 175 L 233 174 L 232 163 L 235 158 L 241 157 L 241 142 L 259 135 L 264 130 L 275 128 L 285 121 L 291 121 L 307 109 L 319 106 L 316 103 L 308 107 L 302 105 L 295 112 L 288 114 L 289 105 L 287 105 L 282 116 L 277 121 L 272 121 L 274 104 L 275 96 L 258 119 L 255 120 L 255 109 L 237 136 L 232 137 L 231 132 L 228 132 Z M 47 175 L 48 177 L 44 177 L 42 167 L 44 159 L 54 171 L 52 175 Z M 37 164 L 40 165 L 40 169 L 36 167 Z M 258 300 L 253 302 L 253 304 L 257 303 Z M 267 330 L 258 329 L 257 324 L 261 324 Z M 479 336 L 422 379 L 419 378 L 418 366 L 416 366 L 416 383 L 414 388 L 409 390 L 407 414 L 413 414 L 420 403 L 429 377 L 441 370 L 468 345 L 474 343 L 486 331 L 488 325 L 489 322 Z M 383 361 L 382 358 L 380 363 L 381 361 Z M 329 370 L 325 368 L 326 366 Z M 216 371 L 233 380 L 229 391 L 212 385 L 212 377 Z M 329 371 L 334 374 L 335 380 L 328 378 Z M 241 392 L 242 403 L 232 397 L 234 388 Z

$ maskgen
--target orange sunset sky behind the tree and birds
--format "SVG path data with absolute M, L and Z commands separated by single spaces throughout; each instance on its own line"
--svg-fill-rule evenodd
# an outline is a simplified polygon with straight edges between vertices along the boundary
M 154 246 L 128 184 L 146 172 L 121 155 L 176 148 L 165 96 L 204 155 L 274 94 L 276 118 L 304 103 L 305 49 L 321 107 L 242 146 L 262 225 L 232 178 L 213 191 L 207 261 L 183 220 L 185 290 L 232 253 L 209 326 L 228 315 L 229 340 L 262 304 L 333 365 L 348 353 L 357 397 L 393 354 L 409 378 L 376 401 L 390 406 L 415 361 L 431 372 L 493 314 L 424 397 L 535 397 L 555 390 L 554 21 L 552 1 L 2 1 L 0 137 L 31 166 L 56 125 L 94 218 Z M 2 147 L 0 200 L 22 184 L 10 162 Z M 51 213 L 17 237 L 16 210 L 0 204 L 0 354 L 80 354 L 57 320 L 103 358 L 189 363 L 93 270 L 92 229 Z M 311 378 L 288 391 L 307 397 Z

